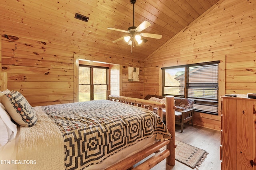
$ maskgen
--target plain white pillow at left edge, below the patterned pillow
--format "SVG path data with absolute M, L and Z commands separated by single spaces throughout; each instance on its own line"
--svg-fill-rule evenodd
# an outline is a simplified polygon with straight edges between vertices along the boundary
M 7 111 L 0 107 L 0 147 L 12 141 L 16 137 L 16 134 L 17 125 L 12 123 Z

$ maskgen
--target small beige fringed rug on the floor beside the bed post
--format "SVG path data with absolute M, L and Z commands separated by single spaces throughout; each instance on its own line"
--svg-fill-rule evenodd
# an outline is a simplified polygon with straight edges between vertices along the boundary
M 208 152 L 203 149 L 193 147 L 177 140 L 175 141 L 175 145 L 177 145 L 175 159 L 197 170 L 208 154 Z

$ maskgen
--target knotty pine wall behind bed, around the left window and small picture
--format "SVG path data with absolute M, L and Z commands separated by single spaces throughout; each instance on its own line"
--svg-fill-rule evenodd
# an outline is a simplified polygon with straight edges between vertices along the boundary
M 66 47 L 54 41 L 30 39 L 30 35 L 24 37 L 23 34 L 2 34 L 0 57 L 2 71 L 8 72 L 8 89 L 21 92 L 32 106 L 76 101 L 78 81 L 75 79 L 78 77 L 74 71 L 78 65 L 74 56 L 76 59 L 120 64 L 120 95 L 143 98 L 143 61 L 133 61 L 125 55 Z M 128 82 L 128 66 L 140 67 L 140 82 Z

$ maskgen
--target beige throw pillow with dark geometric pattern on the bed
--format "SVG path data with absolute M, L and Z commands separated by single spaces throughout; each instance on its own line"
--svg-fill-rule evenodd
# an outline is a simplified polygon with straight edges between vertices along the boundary
M 20 92 L 12 91 L 6 94 L 2 99 L 2 104 L 20 126 L 32 127 L 36 124 L 36 113 Z

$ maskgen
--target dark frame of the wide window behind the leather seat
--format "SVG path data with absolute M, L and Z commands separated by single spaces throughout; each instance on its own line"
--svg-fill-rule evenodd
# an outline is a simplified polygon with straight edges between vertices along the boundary
M 220 61 L 213 61 L 213 62 L 207 62 L 207 63 L 196 63 L 196 64 L 186 64 L 186 65 L 180 65 L 180 66 L 170 66 L 170 67 L 163 67 L 162 69 L 162 96 L 167 96 L 167 95 L 172 95 L 175 97 L 181 97 L 181 98 L 191 98 L 195 101 L 195 105 L 197 104 L 201 104 L 202 106 L 214 106 L 216 107 L 216 112 L 214 111 L 204 111 L 201 109 L 196 109 L 196 111 L 201 112 L 201 113 L 208 113 L 208 114 L 212 114 L 212 115 L 218 115 L 219 113 L 219 88 L 220 88 L 220 82 L 219 82 L 219 63 Z M 216 99 L 199 99 L 199 98 L 193 98 L 193 97 L 189 97 L 188 96 L 188 89 L 190 87 L 190 83 L 189 83 L 189 68 L 191 66 L 204 66 L 204 65 L 210 65 L 210 64 L 217 64 L 218 66 L 218 70 L 217 70 L 217 90 L 216 90 Z M 174 95 L 174 94 L 165 94 L 164 92 L 164 88 L 165 86 L 165 70 L 167 69 L 173 69 L 173 68 L 185 68 L 184 71 L 184 95 Z

